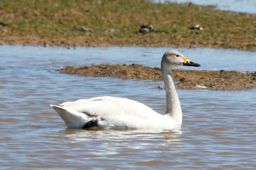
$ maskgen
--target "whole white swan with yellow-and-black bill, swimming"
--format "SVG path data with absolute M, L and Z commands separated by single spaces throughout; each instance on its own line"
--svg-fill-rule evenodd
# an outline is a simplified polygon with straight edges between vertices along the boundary
M 172 129 L 181 126 L 182 113 L 178 94 L 172 78 L 172 68 L 195 66 L 197 63 L 186 59 L 178 51 L 167 51 L 161 62 L 166 90 L 166 112 L 156 113 L 137 101 L 117 97 L 95 97 L 73 102 L 64 102 L 53 107 L 69 128 L 102 129 Z

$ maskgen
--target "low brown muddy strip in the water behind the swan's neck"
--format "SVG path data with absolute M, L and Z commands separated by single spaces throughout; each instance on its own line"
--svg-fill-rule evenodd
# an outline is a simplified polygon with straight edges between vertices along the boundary
M 114 77 L 122 79 L 139 79 L 162 81 L 160 68 L 151 68 L 139 64 L 92 66 L 66 66 L 56 70 L 80 76 Z M 256 72 L 210 71 L 173 69 L 173 78 L 177 89 L 208 89 L 208 90 L 246 90 L 256 87 Z M 206 87 L 206 88 L 205 88 Z M 157 87 L 163 88 L 163 87 Z

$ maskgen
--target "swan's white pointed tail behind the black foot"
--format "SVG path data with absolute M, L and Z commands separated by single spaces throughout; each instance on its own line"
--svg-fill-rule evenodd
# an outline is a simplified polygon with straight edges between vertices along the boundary
M 60 115 L 69 128 L 83 128 L 90 121 L 84 113 L 56 105 L 50 106 Z

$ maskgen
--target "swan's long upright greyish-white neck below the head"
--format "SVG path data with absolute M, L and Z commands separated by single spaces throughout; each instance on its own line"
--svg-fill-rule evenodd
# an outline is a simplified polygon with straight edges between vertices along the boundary
M 182 112 L 180 107 L 180 100 L 175 89 L 175 85 L 172 78 L 172 68 L 166 69 L 161 64 L 161 70 L 164 79 L 165 91 L 166 91 L 166 112 L 165 115 L 172 117 L 172 119 L 181 125 L 182 122 Z

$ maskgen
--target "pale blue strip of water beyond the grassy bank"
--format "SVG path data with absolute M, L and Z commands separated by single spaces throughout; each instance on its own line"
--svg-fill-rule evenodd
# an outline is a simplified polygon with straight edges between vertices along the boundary
M 256 13 L 255 0 L 155 0 L 156 3 L 189 3 L 198 5 L 216 5 L 216 9 L 225 11 L 235 11 L 244 13 Z

